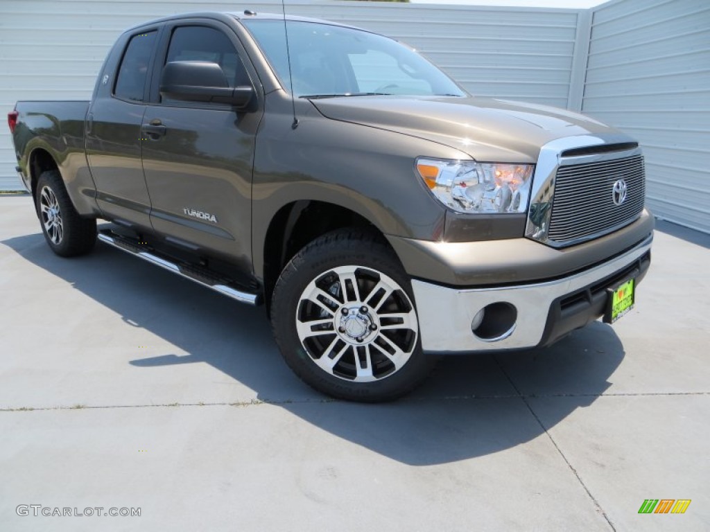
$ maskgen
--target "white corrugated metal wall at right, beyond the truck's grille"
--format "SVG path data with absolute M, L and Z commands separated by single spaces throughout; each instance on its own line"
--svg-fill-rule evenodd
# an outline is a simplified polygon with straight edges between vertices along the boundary
M 640 141 L 657 216 L 710 232 L 708 0 L 594 10 L 582 110 Z

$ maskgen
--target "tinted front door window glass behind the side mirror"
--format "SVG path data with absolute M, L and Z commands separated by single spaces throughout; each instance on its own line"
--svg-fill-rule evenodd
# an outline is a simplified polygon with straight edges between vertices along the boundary
M 249 85 L 239 54 L 224 33 L 207 26 L 180 26 L 173 31 L 168 57 L 171 61 L 210 61 L 222 67 L 230 87 Z M 170 101 L 163 98 L 162 101 Z

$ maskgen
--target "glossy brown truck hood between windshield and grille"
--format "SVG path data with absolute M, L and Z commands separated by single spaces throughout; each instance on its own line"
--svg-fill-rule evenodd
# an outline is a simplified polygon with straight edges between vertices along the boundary
M 327 118 L 433 140 L 484 162 L 535 162 L 550 140 L 618 134 L 564 109 L 497 99 L 342 96 L 311 102 Z

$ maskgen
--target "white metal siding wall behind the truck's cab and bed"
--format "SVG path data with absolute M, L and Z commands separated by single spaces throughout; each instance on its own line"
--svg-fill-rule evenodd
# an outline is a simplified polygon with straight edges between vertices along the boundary
M 288 0 L 288 13 L 390 35 L 430 57 L 479 96 L 566 107 L 579 10 Z M 280 1 L 0 0 L 0 112 L 19 99 L 89 99 L 125 28 L 189 11 L 280 12 Z M 583 66 L 583 65 L 582 65 Z M 0 126 L 0 189 L 18 186 Z

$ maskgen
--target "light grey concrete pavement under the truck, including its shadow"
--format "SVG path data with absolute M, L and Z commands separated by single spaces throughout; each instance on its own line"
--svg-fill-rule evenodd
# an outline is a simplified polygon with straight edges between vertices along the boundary
M 0 530 L 707 530 L 709 259 L 660 223 L 614 326 L 359 405 L 302 384 L 263 309 L 101 243 L 56 257 L 0 196 Z

